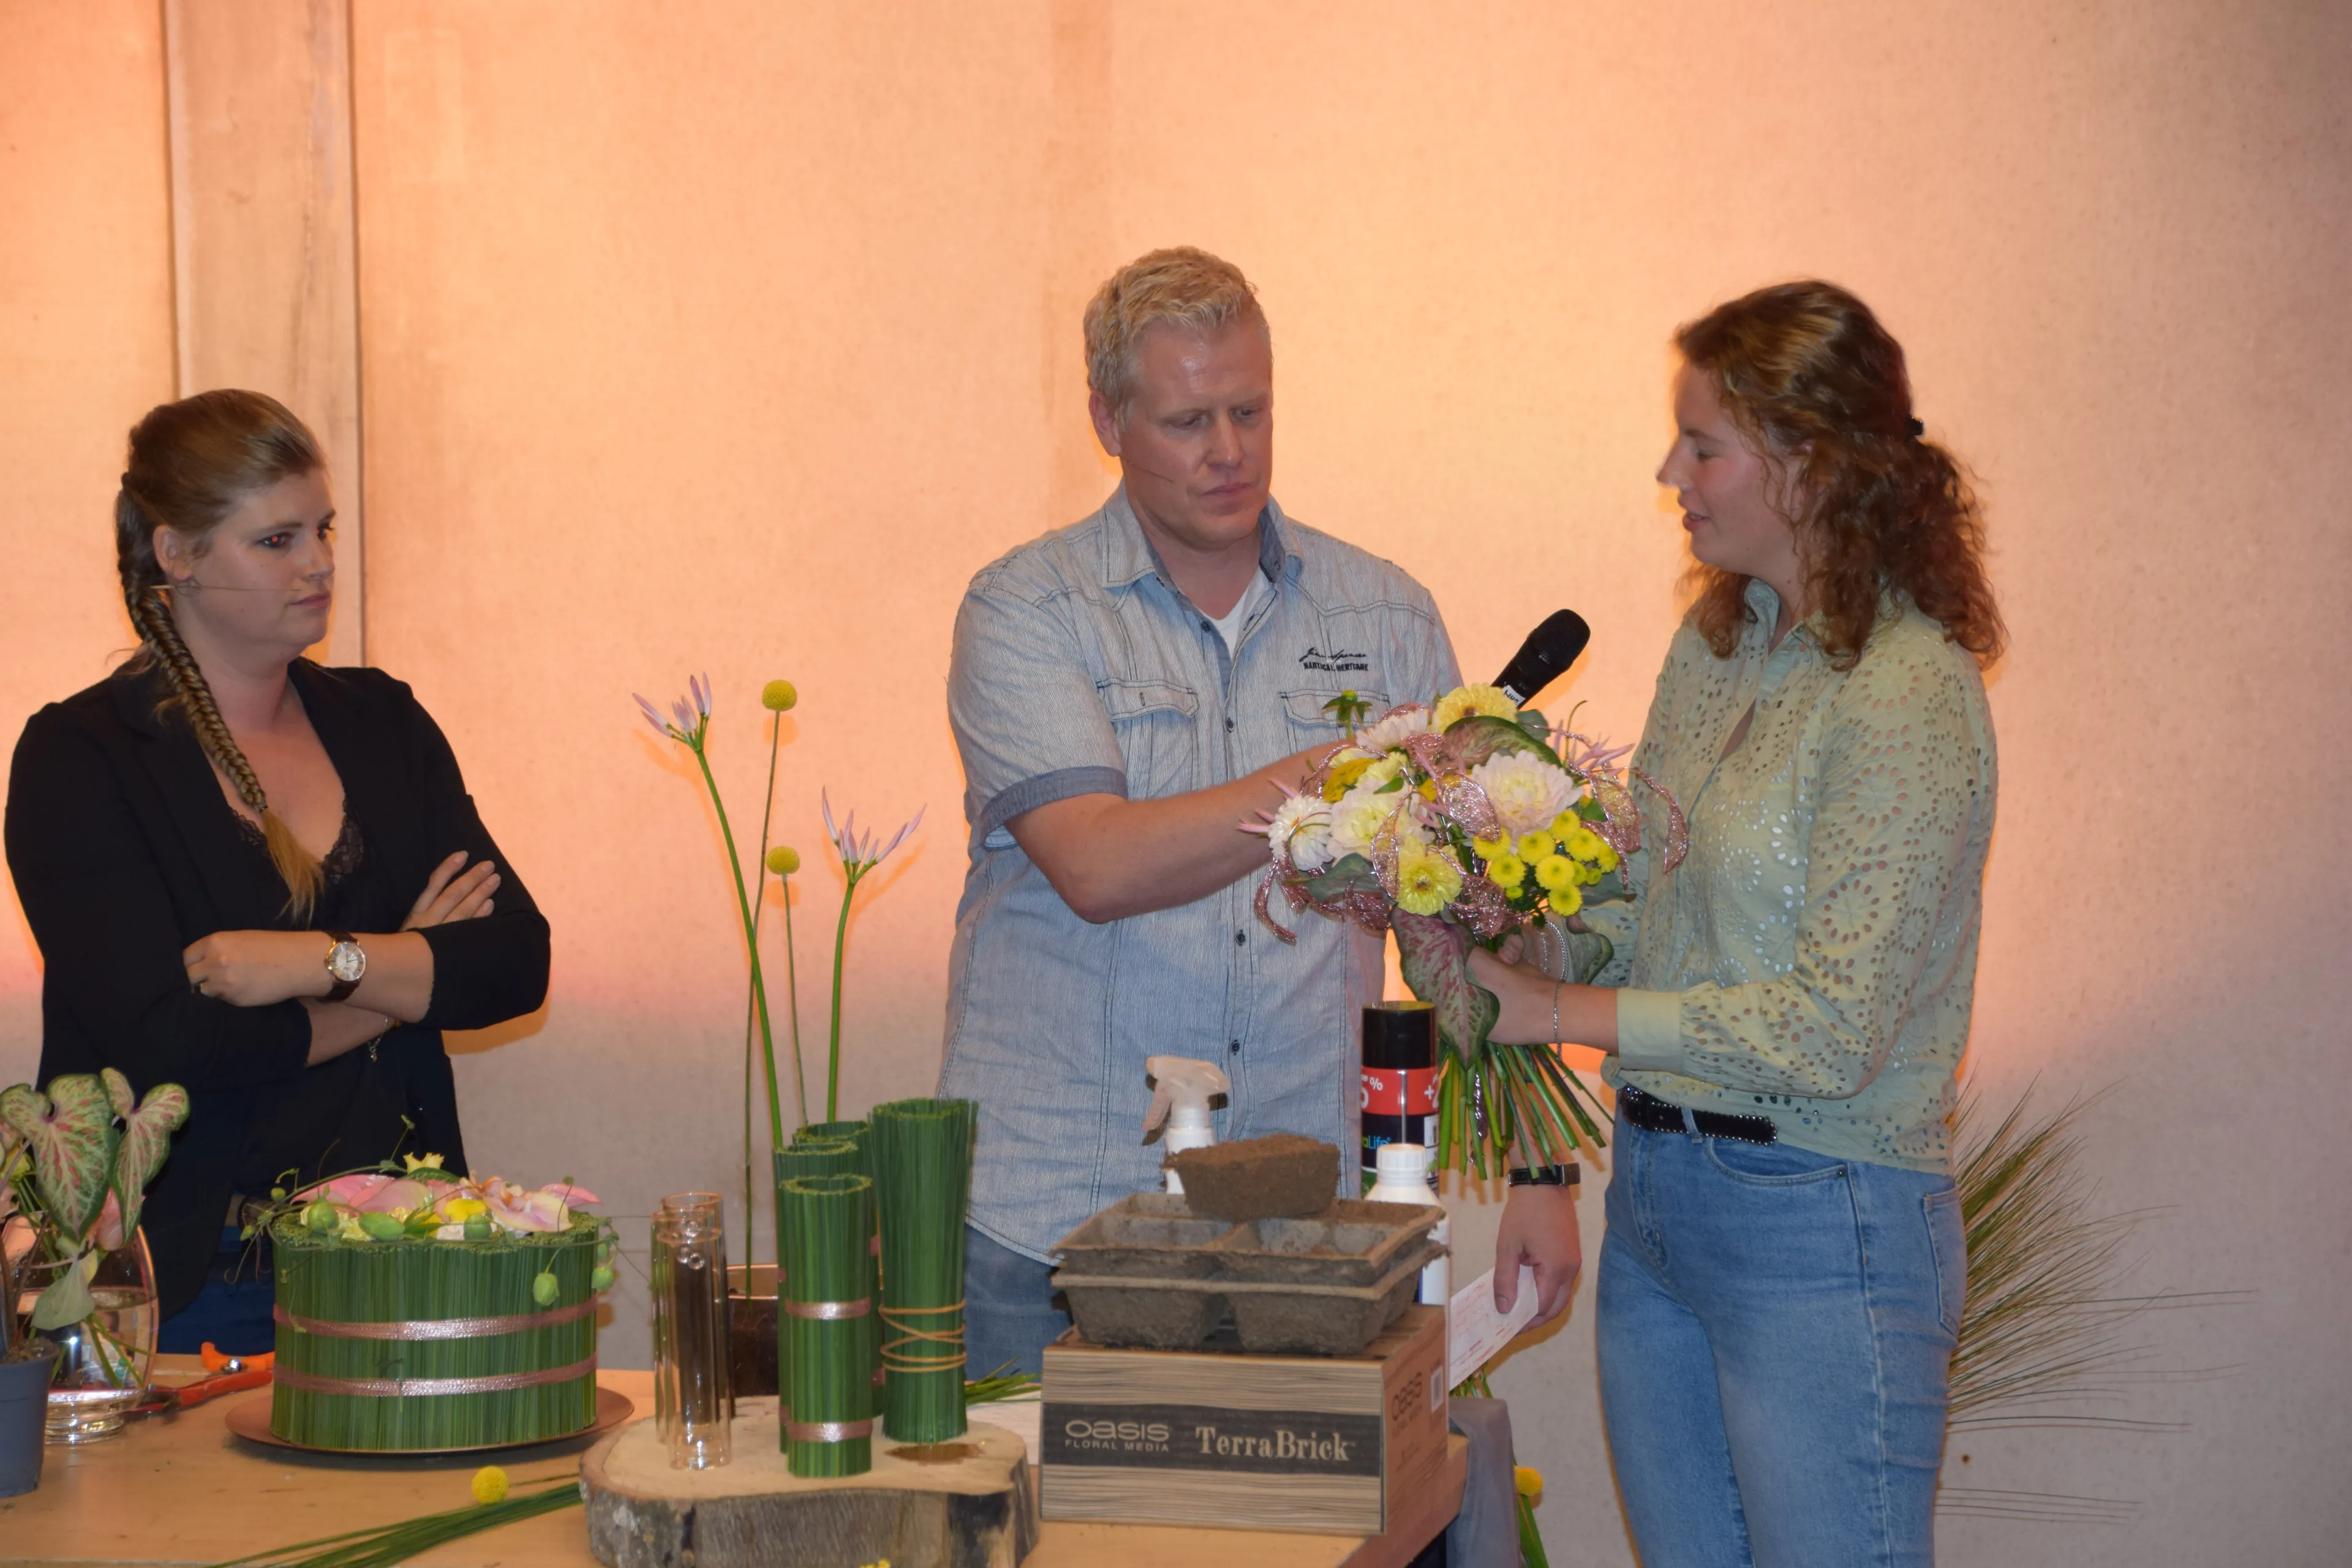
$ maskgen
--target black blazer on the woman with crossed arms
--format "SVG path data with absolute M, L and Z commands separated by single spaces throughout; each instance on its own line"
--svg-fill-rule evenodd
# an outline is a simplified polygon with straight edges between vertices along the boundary
M 423 931 L 430 1011 L 381 1041 L 397 1070 L 372 1079 L 407 1100 L 388 1110 L 416 1124 L 414 1152 L 440 1152 L 463 1171 L 440 1032 L 517 1018 L 546 999 L 548 922 L 482 827 L 449 741 L 402 682 L 310 661 L 296 661 L 292 679 L 343 780 L 343 811 L 402 898 L 459 849 L 468 863 L 499 863 L 494 914 Z M 254 1093 L 306 1072 L 310 1020 L 301 1001 L 230 1006 L 188 990 L 188 943 L 294 922 L 285 884 L 240 839 L 195 731 L 176 712 L 158 719 L 167 693 L 160 672 L 115 675 L 26 722 L 7 788 L 7 863 L 45 966 L 40 1081 L 115 1067 L 139 1093 L 172 1081 L 193 1100 L 141 1220 L 169 1316 L 195 1295 L 219 1244 Z

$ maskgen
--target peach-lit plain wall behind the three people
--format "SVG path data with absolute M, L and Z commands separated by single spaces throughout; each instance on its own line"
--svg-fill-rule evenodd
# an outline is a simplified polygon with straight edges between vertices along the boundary
M 0 16 L 52 59 L 108 56 L 96 24 Z M 2150 1371 L 2227 1368 L 2112 1406 L 2180 1432 L 1955 1443 L 1955 1488 L 2129 1500 L 2126 1523 L 1950 1514 L 1945 1556 L 2326 1561 L 2352 1528 L 2331 1201 L 2347 28 L 2223 0 L 362 0 L 369 661 L 449 729 L 557 933 L 546 1016 L 459 1063 L 477 1159 L 572 1171 L 621 1213 L 729 1182 L 741 959 L 715 827 L 628 703 L 689 670 L 720 691 L 739 830 L 755 691 L 804 693 L 779 823 L 811 865 L 811 1037 L 837 889 L 818 785 L 929 811 L 854 929 L 844 1107 L 929 1088 L 962 867 L 950 616 L 976 567 L 1108 489 L 1077 310 L 1127 256 L 1240 261 L 1275 327 L 1284 505 L 1416 571 L 1475 672 L 1583 609 L 1569 698 L 1625 738 L 1675 611 L 1649 480 L 1668 334 L 1820 273 L 1903 336 L 1992 508 L 2016 649 L 1973 1072 L 1997 1100 L 2110 1088 L 2086 1159 L 2112 1206 L 2150 1211 L 2136 1284 L 2251 1293 L 2147 1324 Z M 139 47 L 111 68 L 127 101 Z M 0 630 L 0 722 L 122 639 L 73 529 L 167 367 L 162 181 L 139 162 L 160 129 L 73 110 L 12 122 L 9 200 L 75 228 L 122 202 L 106 221 L 153 228 L 153 261 L 59 252 L 68 341 L 120 360 L 68 407 L 19 348 L 19 223 L 0 259 L 0 397 L 59 430 L 0 435 L 9 494 L 40 498 L 19 559 L 54 585 Z M 0 964 L 5 1077 L 31 1063 L 28 943 Z M 1585 1213 L 1597 1246 L 1597 1190 Z M 1465 1215 L 1475 1246 L 1491 1211 Z M 616 1354 L 640 1333 L 623 1302 Z M 1585 1288 L 1501 1389 L 1555 1554 L 1628 1561 L 1590 1359 Z

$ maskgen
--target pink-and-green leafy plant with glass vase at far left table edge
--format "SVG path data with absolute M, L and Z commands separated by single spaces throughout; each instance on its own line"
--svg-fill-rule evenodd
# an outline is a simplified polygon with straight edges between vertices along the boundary
M 59 1347 L 47 1439 L 87 1443 L 122 1429 L 155 1356 L 155 1272 L 139 1204 L 188 1119 L 188 1091 L 158 1084 L 136 1098 L 113 1067 L 68 1072 L 42 1093 L 0 1091 L 0 1190 L 9 1333 Z M 21 1314 L 21 1324 L 16 1324 Z

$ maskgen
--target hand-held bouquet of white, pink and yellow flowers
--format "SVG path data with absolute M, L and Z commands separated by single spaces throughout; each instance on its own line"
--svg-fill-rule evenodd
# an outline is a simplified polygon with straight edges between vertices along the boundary
M 1616 766 L 1623 752 L 1555 731 L 1498 686 L 1404 703 L 1362 729 L 1352 691 L 1329 710 L 1348 743 L 1265 823 L 1244 823 L 1272 851 L 1258 919 L 1296 940 L 1272 912 L 1279 893 L 1294 912 L 1397 933 L 1404 983 L 1437 1013 L 1439 1168 L 1484 1178 L 1519 1140 L 1536 1164 L 1581 1147 L 1578 1133 L 1604 1143 L 1581 1105 L 1599 1098 L 1552 1048 L 1489 1039 L 1498 1001 L 1470 978 L 1470 945 L 1545 933 L 1562 938 L 1569 980 L 1606 966 L 1609 938 L 1578 912 L 1632 896 L 1623 863 L 1642 846 L 1642 813 Z M 1672 799 L 1665 809 L 1670 870 L 1684 825 Z

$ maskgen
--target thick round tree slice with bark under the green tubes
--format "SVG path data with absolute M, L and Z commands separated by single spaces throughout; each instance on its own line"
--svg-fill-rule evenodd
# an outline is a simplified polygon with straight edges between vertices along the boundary
M 588 1549 L 609 1568 L 1014 1568 L 1037 1547 L 1028 1448 L 971 1422 L 955 1443 L 915 1448 L 875 1432 L 863 1476 L 802 1481 L 776 1448 L 776 1401 L 741 1399 L 734 1460 L 670 1469 L 652 1420 L 581 1460 Z

